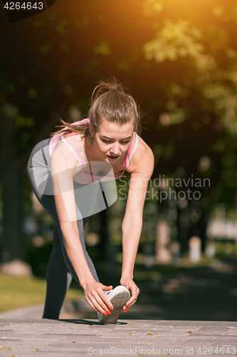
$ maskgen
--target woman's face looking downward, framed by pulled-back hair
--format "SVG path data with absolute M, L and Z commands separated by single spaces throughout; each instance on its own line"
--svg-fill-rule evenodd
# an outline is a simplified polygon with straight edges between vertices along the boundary
M 103 160 L 115 164 L 127 154 L 133 131 L 133 121 L 118 125 L 101 119 L 100 127 L 94 134 L 94 149 Z

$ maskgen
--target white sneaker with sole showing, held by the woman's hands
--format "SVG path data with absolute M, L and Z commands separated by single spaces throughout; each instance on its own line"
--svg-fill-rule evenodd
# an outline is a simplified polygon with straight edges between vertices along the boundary
M 117 322 L 117 318 L 123 306 L 125 306 L 125 303 L 130 299 L 130 291 L 122 285 L 116 286 L 116 288 L 110 291 L 104 291 L 104 293 L 110 299 L 114 308 L 110 310 L 111 315 L 98 313 L 99 323 L 102 325 Z

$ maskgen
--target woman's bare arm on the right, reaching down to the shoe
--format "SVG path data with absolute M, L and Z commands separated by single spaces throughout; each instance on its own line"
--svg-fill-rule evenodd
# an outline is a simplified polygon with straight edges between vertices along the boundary
M 135 154 L 137 155 L 131 164 L 133 171 L 130 178 L 125 217 L 122 222 L 122 275 L 120 283 L 129 288 L 132 293 L 124 311 L 127 311 L 127 308 L 135 303 L 139 294 L 139 288 L 133 281 L 133 269 L 142 231 L 144 199 L 149 178 L 154 169 L 154 156 L 149 146 L 142 145 Z

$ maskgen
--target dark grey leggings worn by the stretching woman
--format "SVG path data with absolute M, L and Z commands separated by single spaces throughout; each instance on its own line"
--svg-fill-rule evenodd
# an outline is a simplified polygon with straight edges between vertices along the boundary
M 68 291 L 72 278 L 75 278 L 75 281 L 77 281 L 78 284 L 80 283 L 78 280 L 78 276 L 76 275 L 74 268 L 68 258 L 68 254 L 65 250 L 65 246 L 63 243 L 63 234 L 58 221 L 58 214 L 56 211 L 56 203 L 54 196 L 39 193 L 36 188 L 36 182 L 34 179 L 32 164 L 33 155 L 43 148 L 44 150 L 48 150 L 48 144 L 50 140 L 51 138 L 43 140 L 33 148 L 31 156 L 28 159 L 27 173 L 28 178 L 31 181 L 33 191 L 36 194 L 36 197 L 38 198 L 38 201 L 53 219 L 53 250 L 51 253 L 51 257 L 48 261 L 47 267 L 47 292 L 43 318 L 59 318 L 60 309 L 63 306 L 65 294 Z M 52 186 L 51 175 L 48 176 L 48 181 L 46 185 Z M 90 259 L 90 256 L 88 255 L 88 252 L 85 248 L 83 227 L 85 226 L 85 223 L 87 221 L 88 218 L 78 220 L 80 243 L 83 246 L 83 251 L 90 271 L 93 277 L 95 278 L 95 281 L 99 282 L 97 273 L 95 271 L 95 266 L 93 265 L 93 261 Z

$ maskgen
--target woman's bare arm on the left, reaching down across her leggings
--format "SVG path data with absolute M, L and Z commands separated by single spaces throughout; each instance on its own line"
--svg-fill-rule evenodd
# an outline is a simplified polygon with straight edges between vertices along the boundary
M 80 243 L 73 187 L 73 176 L 80 172 L 80 166 L 75 157 L 62 145 L 65 144 L 58 145 L 57 150 L 53 152 L 51 175 L 63 243 L 83 287 L 86 301 L 95 311 L 107 314 L 109 308 L 112 309 L 112 304 L 102 290 L 109 291 L 112 287 L 95 281 Z

